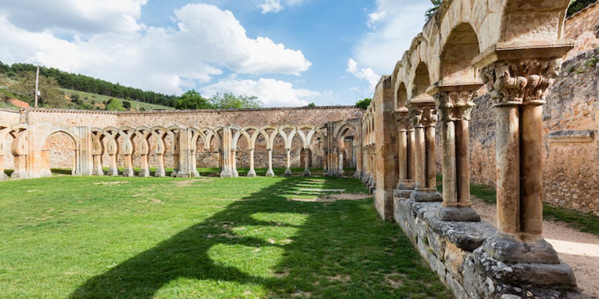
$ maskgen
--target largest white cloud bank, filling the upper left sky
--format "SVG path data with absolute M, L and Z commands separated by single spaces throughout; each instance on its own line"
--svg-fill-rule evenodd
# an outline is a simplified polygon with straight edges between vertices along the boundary
M 311 65 L 299 50 L 267 37 L 248 37 L 230 11 L 214 5 L 189 4 L 176 10 L 177 28 L 146 28 L 138 23 L 140 7 L 147 0 L 58 0 L 63 6 L 52 1 L 58 8 L 47 11 L 47 23 L 44 18 L 35 23 L 39 29 L 13 22 L 33 2 L 50 1 L 1 2 L 2 62 L 41 63 L 164 93 L 181 93 L 195 83 L 207 83 L 222 74 L 222 68 L 236 74 L 299 75 Z M 61 11 L 81 13 L 92 8 L 72 24 L 54 22 L 63 17 Z M 96 22 L 96 16 L 107 19 Z M 32 18 L 38 19 L 37 14 Z M 98 25 L 110 22 L 118 24 Z M 83 29 L 72 38 L 59 36 L 64 30 L 79 30 L 79 24 Z

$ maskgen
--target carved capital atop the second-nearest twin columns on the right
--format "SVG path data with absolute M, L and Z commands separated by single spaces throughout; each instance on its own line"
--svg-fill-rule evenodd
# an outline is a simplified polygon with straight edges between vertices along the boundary
M 439 120 L 470 120 L 472 109 L 476 107 L 474 98 L 477 96 L 477 90 L 439 91 L 435 94 Z

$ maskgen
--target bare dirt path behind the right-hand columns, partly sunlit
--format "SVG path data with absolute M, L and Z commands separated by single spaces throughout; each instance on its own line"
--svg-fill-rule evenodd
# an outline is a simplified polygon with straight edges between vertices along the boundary
M 495 205 L 473 197 L 473 208 L 483 221 L 496 225 Z M 599 298 L 599 237 L 581 233 L 559 221 L 543 221 L 543 236 L 553 245 L 559 258 L 574 270 L 580 291 Z

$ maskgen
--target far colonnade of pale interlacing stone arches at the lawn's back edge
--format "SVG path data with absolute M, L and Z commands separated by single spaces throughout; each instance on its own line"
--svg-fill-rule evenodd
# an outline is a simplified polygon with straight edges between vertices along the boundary
M 55 133 L 68 136 L 74 145 L 74 175 L 150 176 L 150 156 L 155 158 L 153 175 L 167 175 L 165 156 L 173 157 L 173 177 L 196 177 L 197 144 L 204 143 L 210 150 L 216 145 L 219 154 L 219 175 L 229 178 L 239 176 L 237 170 L 240 139 L 246 139 L 249 151 L 249 172 L 256 176 L 255 147 L 259 138 L 264 139 L 267 149 L 268 169 L 266 176 L 274 176 L 273 147 L 277 137 L 283 139 L 286 152 L 285 175 L 291 175 L 291 148 L 294 141 L 305 155 L 316 154 L 323 158 L 325 175 L 344 175 L 344 136 L 357 136 L 355 124 L 359 120 L 339 121 L 320 126 L 221 126 L 221 127 L 55 127 L 50 123 L 0 125 L 0 180 L 8 179 L 4 173 L 4 154 L 10 146 L 14 156 L 11 178 L 40 178 L 50 176 L 50 149 L 46 141 Z M 329 138 L 328 136 L 332 136 Z M 340 138 L 340 141 L 337 140 Z M 356 137 L 356 140 L 358 138 Z M 328 149 L 332 151 L 329 152 Z M 167 150 L 169 152 L 167 152 Z M 357 152 L 352 149 L 350 153 Z M 134 170 L 134 156 L 138 158 L 139 170 Z M 107 161 L 105 161 L 107 158 Z M 137 160 L 137 159 L 136 159 Z M 310 158 L 304 158 L 303 174 L 310 176 Z M 361 160 L 361 158 L 359 159 Z M 122 161 L 119 163 L 119 161 Z M 107 162 L 108 169 L 104 170 Z M 119 167 L 123 167 L 119 171 Z

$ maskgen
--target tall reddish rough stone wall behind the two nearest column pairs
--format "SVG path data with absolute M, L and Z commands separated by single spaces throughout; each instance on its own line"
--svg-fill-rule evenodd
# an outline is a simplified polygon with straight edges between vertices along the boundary
M 599 215 L 599 48 L 564 62 L 544 105 L 543 200 Z M 478 97 L 470 127 L 471 180 L 495 185 L 495 112 Z

